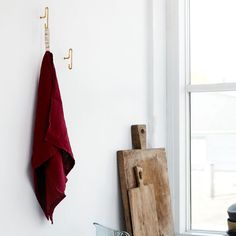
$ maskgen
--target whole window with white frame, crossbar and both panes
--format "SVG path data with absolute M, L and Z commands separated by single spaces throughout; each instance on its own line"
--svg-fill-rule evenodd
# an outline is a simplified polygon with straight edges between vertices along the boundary
M 227 231 L 236 202 L 236 1 L 167 1 L 167 152 L 177 233 Z

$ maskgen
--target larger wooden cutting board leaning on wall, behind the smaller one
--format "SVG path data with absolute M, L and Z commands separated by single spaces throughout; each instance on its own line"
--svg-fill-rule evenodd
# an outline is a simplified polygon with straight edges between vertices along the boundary
M 134 167 L 140 166 L 143 169 L 144 184 L 152 183 L 154 187 L 159 235 L 173 236 L 174 226 L 165 149 L 146 149 L 145 125 L 133 125 L 131 134 L 133 149 L 117 152 L 126 230 L 132 235 L 128 190 L 137 187 Z

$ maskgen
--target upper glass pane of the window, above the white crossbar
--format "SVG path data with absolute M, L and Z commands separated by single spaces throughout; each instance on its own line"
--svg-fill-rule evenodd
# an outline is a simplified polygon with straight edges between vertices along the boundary
M 235 12 L 235 0 L 190 0 L 191 83 L 236 82 Z

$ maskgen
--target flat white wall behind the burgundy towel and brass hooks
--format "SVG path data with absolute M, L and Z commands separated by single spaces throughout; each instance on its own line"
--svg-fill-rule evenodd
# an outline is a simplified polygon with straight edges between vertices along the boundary
M 30 180 L 45 6 L 76 159 L 54 225 Z M 94 221 L 123 227 L 116 151 L 131 147 L 131 124 L 148 123 L 150 6 L 146 0 L 0 1 L 0 235 L 95 235 Z M 69 47 L 72 71 L 63 60 Z

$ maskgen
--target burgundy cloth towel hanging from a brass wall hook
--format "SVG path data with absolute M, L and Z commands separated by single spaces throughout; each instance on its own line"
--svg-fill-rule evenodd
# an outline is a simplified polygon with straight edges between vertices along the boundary
M 55 207 L 65 197 L 66 176 L 74 164 L 53 55 L 47 51 L 38 85 L 32 168 L 35 194 L 51 222 Z

